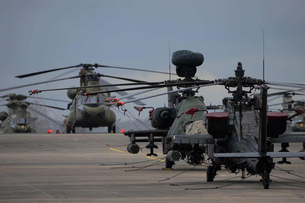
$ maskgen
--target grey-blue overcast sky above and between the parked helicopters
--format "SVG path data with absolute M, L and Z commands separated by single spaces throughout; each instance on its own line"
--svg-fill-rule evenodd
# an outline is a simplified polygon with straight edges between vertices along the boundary
M 167 72 L 172 53 L 183 49 L 204 55 L 205 61 L 196 74 L 200 79 L 234 76 L 238 62 L 245 76 L 263 79 L 264 55 L 265 80 L 304 83 L 304 9 L 303 0 L 0 0 L 1 88 L 47 80 L 66 71 L 25 79 L 16 75 L 80 63 Z M 170 68 L 175 72 L 174 65 Z M 150 82 L 169 79 L 162 74 L 113 68 L 98 68 L 97 72 Z M 78 85 L 79 79 L 73 79 L 4 91 L 1 95 L 27 95 L 30 89 Z M 223 86 L 201 88 L 197 95 L 204 96 L 207 104 L 220 104 L 223 97 L 230 96 Z M 38 96 L 68 100 L 66 91 Z M 165 96 L 143 101 L 154 107 L 167 103 Z M 131 110 L 133 105 L 126 108 Z

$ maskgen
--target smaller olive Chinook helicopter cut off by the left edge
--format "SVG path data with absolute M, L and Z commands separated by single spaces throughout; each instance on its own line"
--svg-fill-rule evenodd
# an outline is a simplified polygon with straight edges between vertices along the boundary
M 40 114 L 41 116 L 47 118 L 48 120 L 52 121 L 58 126 L 60 125 L 60 123 L 57 122 L 56 120 L 46 116 L 45 114 L 42 114 L 35 108 L 30 107 L 29 106 L 30 104 L 40 105 L 40 106 L 43 105 L 24 101 L 25 99 L 28 98 L 28 96 L 24 96 L 20 94 L 16 95 L 15 93 L 11 93 L 2 96 L 2 98 L 3 98 L 2 100 L 9 101 L 9 103 L 5 104 L 8 107 L 9 111 L 8 113 L 5 111 L 0 112 L 0 121 L 2 121 L 0 124 L 0 129 L 1 129 L 0 133 L 36 133 L 37 130 L 34 128 L 34 121 L 37 118 L 33 118 L 31 114 L 27 111 L 27 109 L 30 109 Z M 50 108 L 61 109 L 58 107 L 51 107 L 51 106 Z

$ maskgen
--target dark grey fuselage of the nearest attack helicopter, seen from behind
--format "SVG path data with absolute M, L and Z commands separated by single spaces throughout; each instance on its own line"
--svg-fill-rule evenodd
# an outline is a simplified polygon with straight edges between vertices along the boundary
M 229 113 L 229 133 L 223 139 L 217 139 L 215 144 L 207 144 L 206 150 L 208 156 L 213 158 L 212 160 L 215 161 L 216 165 L 223 164 L 233 173 L 236 170 L 246 169 L 251 174 L 257 173 L 263 176 L 264 173 L 271 172 L 274 166 L 272 158 L 247 156 L 240 158 L 216 158 L 214 156 L 214 153 L 231 153 L 232 155 L 234 153 L 263 153 L 259 147 L 260 112 L 254 110 L 251 105 L 246 105 L 246 103 L 244 102 L 245 105 L 241 106 L 241 110 L 236 112 L 234 111 L 233 102 L 227 101 L 227 105 L 223 105 L 224 111 Z M 269 109 L 269 112 L 279 112 L 279 110 Z M 267 152 L 273 152 L 273 146 L 273 143 L 267 139 Z

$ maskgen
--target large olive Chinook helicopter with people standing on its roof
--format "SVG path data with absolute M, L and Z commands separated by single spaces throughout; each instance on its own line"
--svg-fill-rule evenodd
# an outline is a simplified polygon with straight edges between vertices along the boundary
M 64 121 L 66 126 L 66 132 L 67 133 L 75 133 L 76 127 L 81 128 L 89 128 L 91 131 L 93 128 L 98 127 L 108 127 L 108 133 L 115 133 L 116 127 L 115 127 L 115 121 L 116 116 L 114 114 L 114 111 L 110 109 L 109 106 L 105 105 L 106 100 L 111 99 L 110 93 L 97 93 L 95 95 L 91 95 L 88 97 L 88 92 L 97 92 L 100 90 L 109 90 L 109 89 L 118 89 L 117 87 L 111 85 L 109 82 L 101 79 L 100 77 L 110 77 L 110 78 L 116 78 L 116 79 L 122 79 L 127 81 L 132 81 L 136 83 L 144 82 L 140 80 L 134 80 L 134 79 L 128 79 L 128 78 L 121 78 L 121 77 L 114 77 L 114 76 L 108 76 L 108 75 L 102 75 L 96 72 L 94 72 L 94 68 L 98 67 L 110 67 L 110 68 L 121 68 L 121 67 L 113 67 L 113 66 L 104 66 L 104 65 L 98 65 L 98 64 L 81 64 L 76 66 L 70 66 L 66 68 L 75 68 L 75 67 L 82 67 L 83 70 L 85 70 L 86 75 L 79 75 L 76 77 L 85 77 L 86 80 L 86 86 L 81 87 L 71 87 L 71 88 L 64 88 L 67 90 L 67 96 L 72 100 L 71 103 L 68 104 L 67 109 L 70 110 L 70 113 L 66 116 L 66 119 Z M 53 69 L 49 71 L 42 71 L 42 72 L 36 72 L 26 75 L 20 75 L 16 76 L 18 78 L 24 78 L 32 75 L 38 75 L 46 72 L 66 69 L 66 68 L 58 68 Z M 140 70 L 140 69 L 132 69 L 132 68 L 122 68 L 122 69 L 131 69 L 131 70 L 138 70 L 138 71 L 147 71 L 147 72 L 155 72 L 155 71 L 148 71 L 148 70 Z M 158 73 L 165 73 L 165 72 L 158 72 Z M 166 73 L 168 74 L 168 73 Z M 71 78 L 76 78 L 71 77 Z M 67 78 L 67 79 L 71 79 Z M 53 82 L 58 81 L 62 79 L 56 79 L 52 81 L 45 81 L 45 82 Z M 40 84 L 40 83 L 35 83 Z M 103 85 L 100 85 L 103 84 Z M 31 84 L 33 85 L 33 84 Z M 53 90 L 60 90 L 60 89 L 53 89 Z M 33 90 L 34 93 L 35 90 Z M 41 91 L 47 91 L 47 90 L 41 90 Z M 32 92 L 29 92 L 32 94 Z M 119 94 L 126 95 L 127 93 L 124 91 L 120 91 Z M 135 99 L 134 97 L 129 97 L 129 99 Z M 145 105 L 141 101 L 135 101 L 137 105 Z

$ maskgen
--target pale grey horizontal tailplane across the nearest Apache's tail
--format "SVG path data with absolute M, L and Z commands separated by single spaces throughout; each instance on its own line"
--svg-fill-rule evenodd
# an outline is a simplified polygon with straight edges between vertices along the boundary
M 215 153 L 215 158 L 290 158 L 305 157 L 305 152 Z

